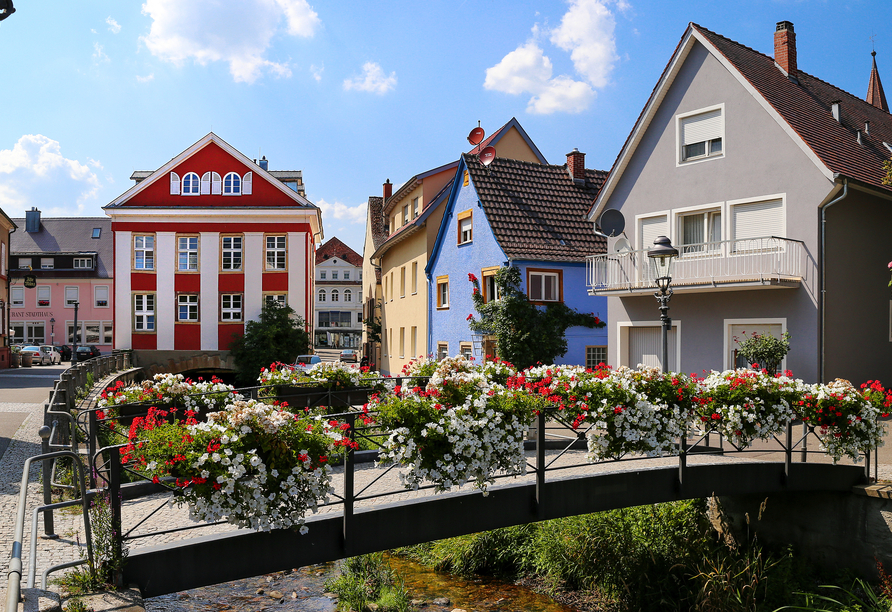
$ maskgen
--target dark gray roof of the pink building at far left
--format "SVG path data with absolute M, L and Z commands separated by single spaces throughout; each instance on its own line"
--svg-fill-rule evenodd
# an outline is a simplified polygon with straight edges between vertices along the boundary
M 110 278 L 114 261 L 114 237 L 108 217 L 63 217 L 40 219 L 40 231 L 25 231 L 25 219 L 13 219 L 19 227 L 9 236 L 11 253 L 84 253 L 96 252 L 96 274 Z M 93 228 L 101 228 L 93 238 Z

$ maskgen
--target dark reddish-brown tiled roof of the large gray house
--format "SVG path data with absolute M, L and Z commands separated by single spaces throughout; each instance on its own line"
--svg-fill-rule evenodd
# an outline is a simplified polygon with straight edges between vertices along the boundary
M 892 191 L 882 184 L 881 168 L 889 159 L 883 142 L 892 143 L 888 112 L 801 70 L 791 75 L 795 80 L 789 79 L 774 65 L 774 58 L 697 24 L 691 26 L 740 71 L 831 172 Z M 831 114 L 831 103 L 836 101 L 840 121 Z M 869 134 L 865 122 L 870 122 Z

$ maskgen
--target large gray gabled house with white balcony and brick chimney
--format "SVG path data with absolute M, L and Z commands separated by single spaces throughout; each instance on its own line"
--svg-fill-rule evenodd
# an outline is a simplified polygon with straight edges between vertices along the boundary
M 610 363 L 660 361 L 646 254 L 665 235 L 670 369 L 730 368 L 735 338 L 789 331 L 797 377 L 888 380 L 890 143 L 875 60 L 863 100 L 798 69 L 789 22 L 774 57 L 689 24 L 589 213 L 614 230 L 587 269 Z

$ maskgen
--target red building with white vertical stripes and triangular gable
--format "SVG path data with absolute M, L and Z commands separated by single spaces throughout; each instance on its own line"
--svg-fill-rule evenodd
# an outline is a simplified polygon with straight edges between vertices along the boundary
M 268 300 L 312 324 L 322 214 L 265 159 L 258 165 L 210 133 L 132 178 L 104 208 L 115 240 L 115 348 L 224 351 Z

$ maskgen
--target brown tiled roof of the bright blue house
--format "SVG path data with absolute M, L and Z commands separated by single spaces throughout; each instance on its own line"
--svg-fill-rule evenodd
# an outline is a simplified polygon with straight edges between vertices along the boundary
M 586 220 L 607 176 L 586 169 L 586 180 L 570 178 L 567 166 L 496 158 L 484 167 L 476 156 L 464 162 L 493 234 L 508 257 L 537 261 L 584 261 L 604 253 L 607 243 Z

